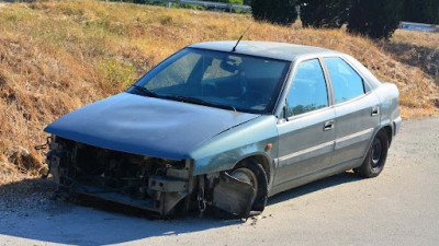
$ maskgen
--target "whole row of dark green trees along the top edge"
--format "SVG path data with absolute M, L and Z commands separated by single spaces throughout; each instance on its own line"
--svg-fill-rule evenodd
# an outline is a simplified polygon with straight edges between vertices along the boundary
M 399 21 L 439 24 L 439 0 L 251 0 L 255 20 L 289 25 L 300 7 L 304 27 L 339 28 L 389 38 Z

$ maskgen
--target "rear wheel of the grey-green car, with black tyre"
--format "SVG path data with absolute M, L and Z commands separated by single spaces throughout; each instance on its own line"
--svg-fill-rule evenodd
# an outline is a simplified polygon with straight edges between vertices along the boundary
M 376 177 L 384 168 L 389 151 L 389 136 L 380 130 L 373 138 L 363 164 L 358 168 L 361 177 Z

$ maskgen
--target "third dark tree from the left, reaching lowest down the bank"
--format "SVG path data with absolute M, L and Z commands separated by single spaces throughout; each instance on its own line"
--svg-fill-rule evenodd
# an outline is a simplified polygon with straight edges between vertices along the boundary
M 399 0 L 352 0 L 348 31 L 389 39 L 399 24 L 402 8 Z

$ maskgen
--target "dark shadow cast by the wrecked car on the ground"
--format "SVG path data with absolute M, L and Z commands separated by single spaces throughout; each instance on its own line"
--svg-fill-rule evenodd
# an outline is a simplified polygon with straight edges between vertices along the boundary
M 359 179 L 352 173 L 342 173 L 279 194 L 269 199 L 268 206 Z M 53 192 L 53 186 L 42 183 L 41 179 L 25 179 L 0 186 L 1 200 L 9 199 L 13 202 L 13 195 L 23 188 L 26 189 L 24 194 L 31 197 L 35 192 L 47 196 L 50 190 Z M 103 245 L 202 232 L 246 223 L 245 220 L 218 220 L 209 214 L 203 218 L 198 214 L 187 214 L 168 220 L 157 220 L 144 211 L 92 200 L 80 203 L 54 200 L 42 208 L 33 208 L 33 204 L 29 207 L 20 204 L 19 210 L 12 212 L 2 211 L 1 206 L 0 203 L 0 241 L 4 241 L 2 236 L 8 235 L 55 244 Z M 38 207 L 38 201 L 35 202 L 35 206 Z

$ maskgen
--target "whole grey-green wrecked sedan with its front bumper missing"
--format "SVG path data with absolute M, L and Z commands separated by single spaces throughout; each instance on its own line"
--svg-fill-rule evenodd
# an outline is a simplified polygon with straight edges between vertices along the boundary
M 248 218 L 316 179 L 378 176 L 401 121 L 396 86 L 348 55 L 201 43 L 47 126 L 47 164 L 63 190 Z

